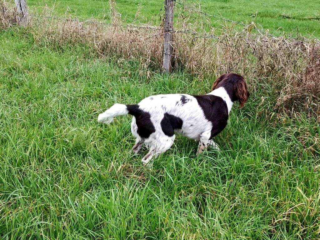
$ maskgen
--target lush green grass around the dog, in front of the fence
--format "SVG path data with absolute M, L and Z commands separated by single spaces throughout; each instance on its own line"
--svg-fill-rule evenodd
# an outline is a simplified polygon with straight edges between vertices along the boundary
M 318 239 L 319 137 L 313 118 L 274 113 L 275 92 L 250 83 L 196 156 L 177 137 L 154 162 L 134 156 L 130 116 L 97 123 L 112 104 L 199 94 L 214 79 L 163 75 L 86 45 L 35 44 L 0 32 L 0 236 L 3 239 Z

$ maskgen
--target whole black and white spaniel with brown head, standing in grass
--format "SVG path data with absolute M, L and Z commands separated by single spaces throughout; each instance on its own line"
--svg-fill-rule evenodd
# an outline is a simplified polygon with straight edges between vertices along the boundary
M 226 127 L 233 103 L 239 101 L 242 107 L 250 93 L 244 78 L 234 73 L 217 78 L 211 91 L 206 95 L 161 94 L 139 104 L 116 103 L 99 114 L 98 122 L 109 124 L 115 116 L 132 115 L 131 131 L 136 137 L 132 151 L 138 153 L 143 145 L 150 149 L 142 158 L 143 165 L 171 148 L 175 133 L 198 141 L 197 154 L 210 145 L 219 150 L 212 138 Z

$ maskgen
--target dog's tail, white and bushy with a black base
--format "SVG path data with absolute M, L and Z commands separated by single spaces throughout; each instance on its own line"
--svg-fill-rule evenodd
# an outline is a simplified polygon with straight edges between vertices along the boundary
M 126 114 L 131 114 L 133 116 L 136 116 L 139 113 L 140 113 L 140 109 L 138 104 L 124 105 L 124 104 L 116 103 L 104 113 L 99 114 L 98 122 L 109 124 L 112 122 L 115 116 L 126 115 Z

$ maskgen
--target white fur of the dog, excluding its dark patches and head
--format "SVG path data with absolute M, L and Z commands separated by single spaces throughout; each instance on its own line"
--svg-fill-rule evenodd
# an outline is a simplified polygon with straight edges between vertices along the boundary
M 223 87 L 215 89 L 207 95 L 210 94 L 221 97 L 226 102 L 228 113 L 230 113 L 233 102 Z M 177 108 L 174 103 L 180 100 L 181 95 L 187 96 L 189 101 Z M 148 164 L 152 157 L 157 157 L 171 148 L 175 139 L 175 135 L 171 137 L 167 136 L 161 129 L 160 122 L 165 112 L 174 116 L 179 116 L 179 118 L 182 119 L 182 128 L 175 130 L 175 133 L 199 141 L 198 154 L 204 150 L 203 143 L 205 146 L 212 145 L 216 149 L 219 149 L 213 140 L 209 140 L 212 123 L 205 118 L 204 112 L 200 108 L 195 97 L 188 94 L 161 94 L 143 99 L 140 101 L 139 106 L 141 110 L 150 114 L 151 122 L 156 129 L 156 132 L 151 133 L 148 139 L 142 139 L 137 132 L 138 127 L 136 119 L 134 116 L 132 117 L 131 131 L 133 136 L 136 137 L 136 144 L 132 150 L 135 153 L 138 153 L 143 145 L 150 149 L 149 153 L 142 158 L 142 163 L 144 165 Z M 162 108 L 162 106 L 164 106 L 164 108 Z M 129 111 L 127 110 L 126 105 L 116 103 L 104 113 L 99 114 L 98 122 L 109 124 L 115 116 L 126 115 L 128 113 Z

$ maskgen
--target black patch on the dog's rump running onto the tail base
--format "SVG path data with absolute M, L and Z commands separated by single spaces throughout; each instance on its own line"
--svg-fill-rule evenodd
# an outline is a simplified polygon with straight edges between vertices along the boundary
M 150 114 L 139 108 L 138 104 L 126 105 L 130 115 L 136 118 L 138 134 L 141 138 L 148 138 L 151 133 L 156 132 L 155 126 L 150 120 Z

